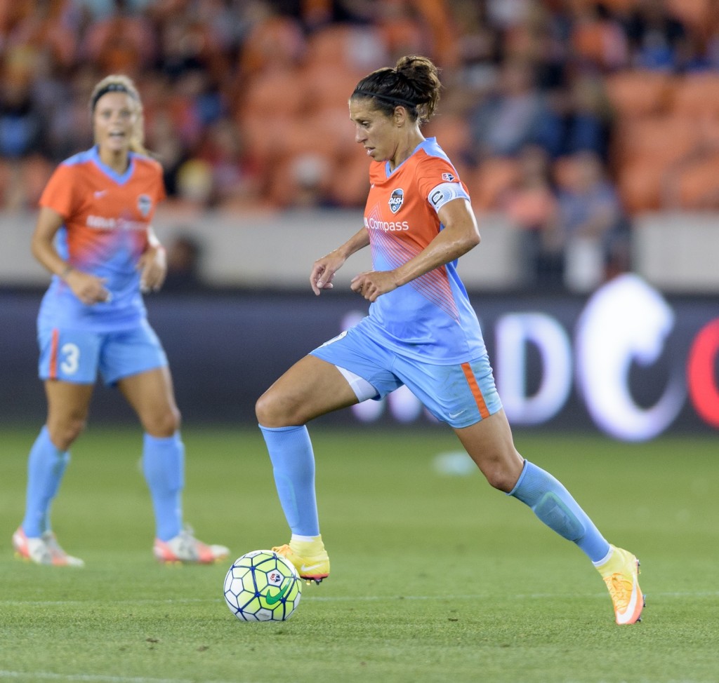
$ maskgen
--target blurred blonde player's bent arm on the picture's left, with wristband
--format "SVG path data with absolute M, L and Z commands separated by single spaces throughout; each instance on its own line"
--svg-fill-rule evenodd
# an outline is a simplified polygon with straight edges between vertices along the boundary
M 32 233 L 32 255 L 52 274 L 65 280 L 83 304 L 91 305 L 107 301 L 109 292 L 104 287 L 104 278 L 96 277 L 73 267 L 65 261 L 55 248 L 55 235 L 64 223 L 64 218 L 55 209 L 40 208 L 35 232 Z

